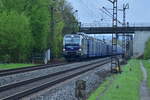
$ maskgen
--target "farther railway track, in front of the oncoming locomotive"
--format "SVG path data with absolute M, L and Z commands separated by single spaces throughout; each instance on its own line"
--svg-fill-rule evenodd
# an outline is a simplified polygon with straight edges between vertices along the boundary
M 57 67 L 61 65 L 65 65 L 67 63 L 60 63 L 60 64 L 47 64 L 47 65 L 37 65 L 37 66 L 30 66 L 30 67 L 22 67 L 22 68 L 16 68 L 16 69 L 6 69 L 6 70 L 0 70 L 0 77 L 8 76 L 12 74 L 19 74 L 39 69 L 45 69 L 50 67 Z

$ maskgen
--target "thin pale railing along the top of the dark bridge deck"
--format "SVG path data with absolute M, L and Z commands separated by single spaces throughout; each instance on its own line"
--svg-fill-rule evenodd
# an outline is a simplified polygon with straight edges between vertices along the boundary
M 118 24 L 122 27 L 121 24 Z M 81 27 L 112 27 L 111 23 L 81 23 Z M 128 27 L 150 27 L 150 23 L 129 23 Z

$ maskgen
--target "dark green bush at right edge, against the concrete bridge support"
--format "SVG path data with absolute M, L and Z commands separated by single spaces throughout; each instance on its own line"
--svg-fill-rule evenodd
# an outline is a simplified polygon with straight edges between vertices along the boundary
M 145 44 L 144 59 L 150 59 L 150 39 Z

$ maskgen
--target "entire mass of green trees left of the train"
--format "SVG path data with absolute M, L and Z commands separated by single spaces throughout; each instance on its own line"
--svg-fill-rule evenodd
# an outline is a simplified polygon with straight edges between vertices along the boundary
M 60 57 L 63 35 L 76 22 L 65 0 L 0 0 L 0 61 L 26 62 L 48 48 Z

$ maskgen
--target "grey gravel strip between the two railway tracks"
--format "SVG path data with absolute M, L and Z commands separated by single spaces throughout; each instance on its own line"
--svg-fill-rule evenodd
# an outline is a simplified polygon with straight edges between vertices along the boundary
M 58 67 L 52 67 L 52 68 L 47 68 L 47 69 L 40 69 L 40 70 L 35 70 L 35 71 L 30 71 L 30 72 L 25 72 L 25 73 L 19 73 L 19 74 L 14 74 L 14 75 L 9 75 L 9 76 L 3 76 L 0 77 L 0 86 L 6 85 L 6 84 L 11 84 L 14 82 L 19 82 L 22 80 L 27 80 L 27 79 L 32 79 L 32 78 L 37 78 L 41 76 L 45 76 L 51 73 L 79 67 L 84 64 L 89 64 L 92 62 L 99 61 L 100 59 L 93 60 L 93 61 L 85 61 L 85 62 L 77 62 L 73 64 L 68 64 L 68 65 L 62 65 Z

